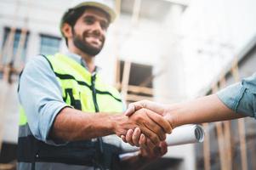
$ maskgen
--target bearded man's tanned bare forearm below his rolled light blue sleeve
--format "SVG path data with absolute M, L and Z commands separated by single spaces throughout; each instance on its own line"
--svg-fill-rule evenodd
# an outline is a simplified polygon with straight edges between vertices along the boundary
M 94 139 L 115 133 L 115 121 L 120 115 L 105 113 L 84 113 L 71 108 L 64 108 L 55 117 L 51 137 L 62 140 Z

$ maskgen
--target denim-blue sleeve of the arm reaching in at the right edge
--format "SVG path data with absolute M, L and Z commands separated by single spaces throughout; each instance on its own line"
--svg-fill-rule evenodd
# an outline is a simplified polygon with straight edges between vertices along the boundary
M 217 93 L 231 110 L 256 118 L 256 73 Z

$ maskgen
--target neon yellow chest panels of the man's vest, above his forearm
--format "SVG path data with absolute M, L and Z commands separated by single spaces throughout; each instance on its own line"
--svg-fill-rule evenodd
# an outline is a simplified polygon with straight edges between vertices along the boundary
M 60 82 L 65 103 L 77 104 L 77 100 L 80 100 L 82 111 L 95 112 L 93 96 L 95 89 L 99 111 L 122 112 L 120 94 L 115 88 L 102 82 L 100 76 L 95 75 L 95 81 L 92 84 L 94 76 L 75 60 L 62 54 L 55 54 L 54 57 L 48 56 L 47 59 Z

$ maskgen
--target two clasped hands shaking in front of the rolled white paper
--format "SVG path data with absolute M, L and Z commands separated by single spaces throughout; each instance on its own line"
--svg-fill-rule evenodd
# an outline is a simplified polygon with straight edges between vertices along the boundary
M 148 100 L 132 103 L 125 118 L 117 120 L 115 132 L 124 142 L 140 147 L 142 154 L 162 156 L 167 152 L 166 134 L 174 128 L 167 109 Z

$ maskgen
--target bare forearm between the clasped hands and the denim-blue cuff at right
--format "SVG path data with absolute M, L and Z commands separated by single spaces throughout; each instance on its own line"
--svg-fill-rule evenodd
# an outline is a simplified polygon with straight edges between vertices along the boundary
M 171 105 L 167 118 L 174 127 L 190 123 L 218 122 L 244 117 L 230 110 L 216 94 Z

